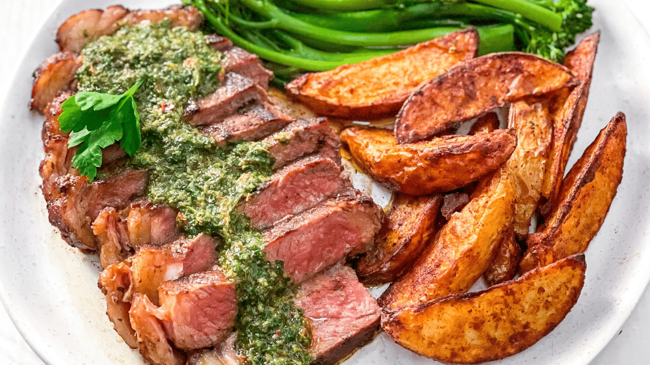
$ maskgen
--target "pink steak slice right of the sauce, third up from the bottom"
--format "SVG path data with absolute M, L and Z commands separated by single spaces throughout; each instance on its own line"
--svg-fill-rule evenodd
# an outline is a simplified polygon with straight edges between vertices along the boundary
M 237 208 L 250 218 L 254 228 L 266 229 L 350 188 L 352 183 L 341 176 L 339 165 L 330 158 L 314 155 L 274 173 Z

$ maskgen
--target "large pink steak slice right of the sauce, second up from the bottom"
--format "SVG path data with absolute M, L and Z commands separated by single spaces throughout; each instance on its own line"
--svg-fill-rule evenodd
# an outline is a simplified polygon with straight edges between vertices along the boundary
M 287 275 L 302 283 L 346 257 L 365 253 L 382 217 L 372 199 L 348 190 L 263 231 L 266 258 L 283 261 Z

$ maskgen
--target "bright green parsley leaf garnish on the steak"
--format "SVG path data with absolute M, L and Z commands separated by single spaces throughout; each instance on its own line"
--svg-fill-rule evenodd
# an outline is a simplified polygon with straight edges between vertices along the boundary
M 116 141 L 129 155 L 140 148 L 140 115 L 133 99 L 140 85 L 142 81 L 136 82 L 122 95 L 80 92 L 61 105 L 60 128 L 71 132 L 68 148 L 79 145 L 72 166 L 88 181 L 97 176 L 102 148 Z

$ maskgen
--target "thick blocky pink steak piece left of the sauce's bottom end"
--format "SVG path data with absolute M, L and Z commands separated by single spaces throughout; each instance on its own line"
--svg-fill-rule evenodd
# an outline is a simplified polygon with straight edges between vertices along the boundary
M 218 268 L 162 283 L 159 298 L 157 317 L 180 349 L 216 346 L 232 333 L 237 292 Z

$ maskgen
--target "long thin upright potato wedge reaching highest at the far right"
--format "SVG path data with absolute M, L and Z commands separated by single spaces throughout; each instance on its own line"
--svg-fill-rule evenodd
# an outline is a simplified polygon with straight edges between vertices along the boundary
M 546 217 L 549 216 L 551 207 L 560 193 L 567 160 L 569 160 L 578 129 L 582 123 L 599 40 L 599 32 L 587 36 L 575 50 L 567 53 L 564 58 L 564 66 L 577 75 L 580 85 L 574 88 L 570 94 L 567 90 L 563 90 L 554 95 L 556 105 L 552 110 L 553 142 L 542 190 L 546 202 L 539 208 Z

